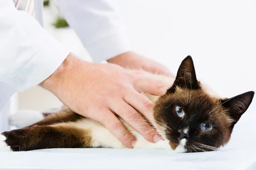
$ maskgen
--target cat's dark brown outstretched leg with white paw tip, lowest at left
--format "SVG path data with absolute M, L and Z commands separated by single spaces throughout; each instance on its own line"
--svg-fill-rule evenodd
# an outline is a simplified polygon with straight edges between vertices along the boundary
M 72 126 L 35 125 L 0 134 L 0 151 L 82 147 L 92 147 L 90 130 Z

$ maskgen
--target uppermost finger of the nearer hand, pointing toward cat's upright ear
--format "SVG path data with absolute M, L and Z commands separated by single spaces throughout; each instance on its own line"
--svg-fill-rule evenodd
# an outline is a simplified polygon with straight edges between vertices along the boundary
M 134 88 L 137 91 L 148 92 L 152 95 L 162 95 L 166 93 L 166 90 L 171 88 L 173 82 L 165 81 L 160 77 L 154 78 L 153 76 L 149 77 L 148 75 L 137 75 L 134 81 Z

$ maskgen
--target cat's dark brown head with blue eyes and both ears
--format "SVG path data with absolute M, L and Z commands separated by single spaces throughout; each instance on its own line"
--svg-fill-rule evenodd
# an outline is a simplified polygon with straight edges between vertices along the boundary
M 155 103 L 154 119 L 172 150 L 215 150 L 227 144 L 253 95 L 253 91 L 230 99 L 210 95 L 198 82 L 192 58 L 188 56 L 181 62 L 172 87 Z

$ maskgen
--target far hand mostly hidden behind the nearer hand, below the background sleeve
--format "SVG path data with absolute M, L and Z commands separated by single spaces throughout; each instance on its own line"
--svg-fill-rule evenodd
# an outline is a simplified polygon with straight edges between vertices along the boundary
M 175 75 L 172 74 L 165 66 L 131 51 L 108 59 L 108 62 L 120 65 L 123 68 L 143 69 L 151 73 L 163 74 L 175 78 Z

